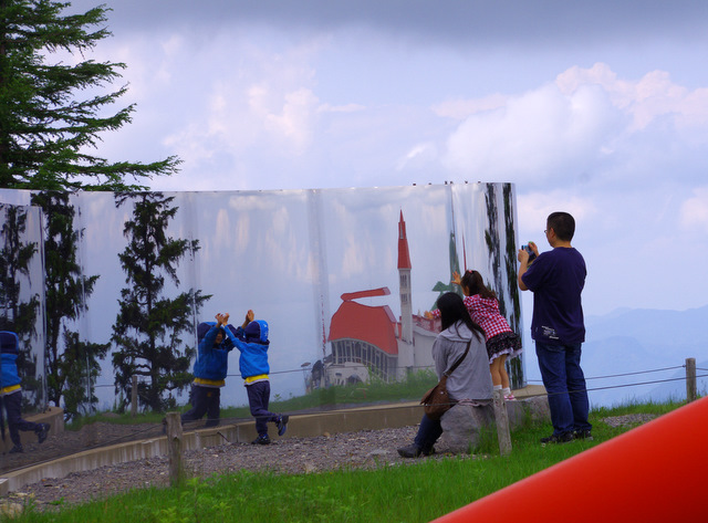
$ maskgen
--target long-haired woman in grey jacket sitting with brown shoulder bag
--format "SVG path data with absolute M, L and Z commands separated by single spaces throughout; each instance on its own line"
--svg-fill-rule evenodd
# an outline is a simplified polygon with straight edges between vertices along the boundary
M 491 374 L 485 346 L 485 331 L 472 322 L 462 299 L 454 293 L 438 300 L 441 332 L 433 344 L 433 360 L 438 379 L 449 372 L 447 391 L 452 402 L 487 404 L 492 398 Z M 469 349 L 467 348 L 469 345 Z M 467 354 L 466 354 L 467 351 Z M 455 364 L 458 363 L 457 367 Z M 403 458 L 430 456 L 442 433 L 439 420 L 423 415 L 414 442 L 398 449 Z

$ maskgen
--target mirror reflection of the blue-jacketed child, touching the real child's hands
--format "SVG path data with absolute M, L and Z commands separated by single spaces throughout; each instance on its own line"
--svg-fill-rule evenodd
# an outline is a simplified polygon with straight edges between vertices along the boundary
M 192 408 L 181 415 L 183 423 L 201 419 L 207 415 L 206 427 L 219 425 L 221 387 L 226 384 L 229 352 L 233 344 L 226 337 L 228 314 L 217 314 L 217 322 L 204 322 L 197 326 L 199 347 L 195 360 L 195 380 L 191 384 Z

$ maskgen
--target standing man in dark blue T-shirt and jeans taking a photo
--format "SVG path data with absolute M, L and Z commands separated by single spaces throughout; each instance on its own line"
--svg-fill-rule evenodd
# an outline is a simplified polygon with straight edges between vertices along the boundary
M 549 395 L 553 433 L 542 443 L 592 439 L 587 421 L 590 401 L 585 376 L 580 366 L 585 325 L 581 293 L 585 285 L 585 260 L 572 245 L 575 220 L 568 212 L 548 217 L 545 238 L 553 250 L 539 254 L 529 263 L 529 252 L 518 254 L 519 289 L 533 292 L 531 337 Z

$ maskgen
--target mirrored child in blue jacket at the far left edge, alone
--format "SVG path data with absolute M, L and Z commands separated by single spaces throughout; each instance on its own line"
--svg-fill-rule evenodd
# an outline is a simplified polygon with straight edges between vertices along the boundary
M 0 331 L 0 427 L 4 441 L 4 421 L 2 410 L 8 414 L 8 428 L 13 447 L 10 453 L 24 452 L 20 430 L 32 431 L 38 441 L 43 443 L 49 435 L 49 423 L 34 423 L 22 419 L 22 386 L 18 374 L 17 359 L 20 354 L 18 335 L 9 331 Z

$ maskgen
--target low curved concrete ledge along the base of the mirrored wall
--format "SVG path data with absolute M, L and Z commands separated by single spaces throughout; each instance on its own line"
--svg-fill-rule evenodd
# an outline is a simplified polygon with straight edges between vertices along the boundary
M 530 386 L 513 393 L 517 398 L 523 399 L 529 396 L 542 395 L 545 391 L 543 387 Z M 325 432 L 339 433 L 408 427 L 418 425 L 421 416 L 423 408 L 417 401 L 298 415 L 290 419 L 288 432 L 284 437 L 309 438 L 322 436 Z M 52 430 L 54 430 L 54 426 L 52 426 Z M 183 449 L 186 451 L 198 450 L 207 447 L 217 447 L 227 441 L 230 443 L 247 443 L 252 441 L 256 436 L 253 420 L 246 420 L 233 425 L 185 432 Z M 37 483 L 43 479 L 65 478 L 72 472 L 162 457 L 167 456 L 167 453 L 166 436 L 86 450 L 4 474 L 0 478 L 0 495 L 7 495 L 9 492 L 17 491 L 27 484 Z

